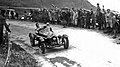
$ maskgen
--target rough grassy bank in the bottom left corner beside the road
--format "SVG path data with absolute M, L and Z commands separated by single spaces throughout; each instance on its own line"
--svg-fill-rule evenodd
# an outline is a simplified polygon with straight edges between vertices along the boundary
M 6 51 L 6 50 L 4 50 Z M 0 54 L 0 66 L 5 63 L 7 52 Z M 5 67 L 37 67 L 36 60 L 19 45 L 12 44 L 11 54 Z

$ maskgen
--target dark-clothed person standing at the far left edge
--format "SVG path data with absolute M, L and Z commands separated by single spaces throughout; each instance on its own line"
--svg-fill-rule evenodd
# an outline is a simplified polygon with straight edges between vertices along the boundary
M 4 29 L 4 26 L 5 26 L 5 28 L 8 32 L 11 32 L 7 23 L 6 23 L 5 17 L 3 17 L 1 12 L 0 12 L 0 47 L 3 43 L 3 29 Z

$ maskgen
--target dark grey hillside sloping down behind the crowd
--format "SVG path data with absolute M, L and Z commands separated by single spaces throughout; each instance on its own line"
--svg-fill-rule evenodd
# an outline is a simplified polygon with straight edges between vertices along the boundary
M 57 7 L 95 8 L 87 0 L 0 0 L 0 6 L 51 8 L 52 4 Z

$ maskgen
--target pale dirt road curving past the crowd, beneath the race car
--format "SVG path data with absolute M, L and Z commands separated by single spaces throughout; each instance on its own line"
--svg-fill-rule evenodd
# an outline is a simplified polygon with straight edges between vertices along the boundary
M 68 50 L 64 50 L 63 47 L 50 49 L 42 55 L 39 48 L 32 48 L 29 43 L 28 33 L 34 32 L 35 23 L 25 21 L 8 21 L 8 23 L 11 24 L 13 31 L 12 40 L 36 59 L 40 57 L 38 59 L 40 63 L 57 67 L 120 67 L 120 46 L 98 32 L 52 25 L 56 34 L 69 36 L 70 47 Z

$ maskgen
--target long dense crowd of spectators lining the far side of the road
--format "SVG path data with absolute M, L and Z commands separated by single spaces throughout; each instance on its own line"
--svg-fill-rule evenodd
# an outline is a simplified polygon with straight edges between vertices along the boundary
M 64 27 L 74 26 L 86 29 L 103 30 L 106 33 L 114 35 L 116 38 L 120 33 L 120 14 L 110 9 L 105 10 L 104 6 L 100 8 L 97 3 L 97 9 L 81 8 L 40 8 L 39 10 L 25 11 L 25 16 L 31 21 L 41 23 L 50 22 L 51 24 L 60 24 Z

